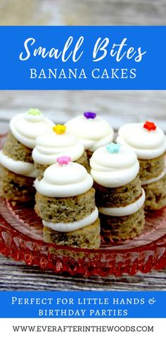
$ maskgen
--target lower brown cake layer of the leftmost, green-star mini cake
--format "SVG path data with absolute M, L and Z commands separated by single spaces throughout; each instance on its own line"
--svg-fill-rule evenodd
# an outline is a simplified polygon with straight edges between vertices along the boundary
M 11 202 L 34 202 L 34 179 L 8 171 L 0 165 L 0 194 Z

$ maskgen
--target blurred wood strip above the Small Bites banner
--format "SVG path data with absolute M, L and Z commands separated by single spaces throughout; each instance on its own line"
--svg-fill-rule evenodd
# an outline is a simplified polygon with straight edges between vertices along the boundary
M 0 1 L 1 25 L 166 25 L 165 0 Z

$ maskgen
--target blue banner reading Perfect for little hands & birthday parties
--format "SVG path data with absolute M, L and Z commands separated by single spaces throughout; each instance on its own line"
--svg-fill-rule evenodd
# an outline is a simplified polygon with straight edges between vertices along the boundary
M 165 318 L 166 292 L 0 292 L 0 318 Z

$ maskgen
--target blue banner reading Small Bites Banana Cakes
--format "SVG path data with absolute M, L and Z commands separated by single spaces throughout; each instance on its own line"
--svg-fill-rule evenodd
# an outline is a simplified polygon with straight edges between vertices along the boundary
M 166 90 L 166 26 L 1 26 L 0 90 Z

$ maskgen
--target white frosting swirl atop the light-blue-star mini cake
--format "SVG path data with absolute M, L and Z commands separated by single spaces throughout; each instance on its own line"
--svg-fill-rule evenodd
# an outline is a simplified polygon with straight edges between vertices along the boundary
M 91 176 L 104 187 L 120 187 L 130 183 L 139 173 L 139 161 L 129 147 L 110 154 L 106 147 L 97 149 L 90 159 Z

